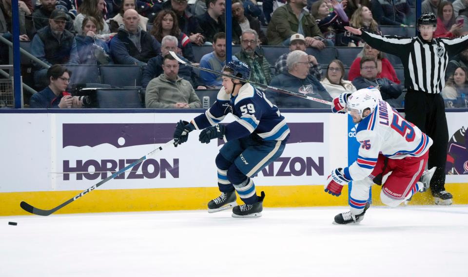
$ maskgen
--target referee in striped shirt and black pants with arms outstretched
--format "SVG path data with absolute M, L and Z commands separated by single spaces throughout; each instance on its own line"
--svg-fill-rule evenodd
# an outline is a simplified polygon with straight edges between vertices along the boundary
M 455 39 L 433 38 L 437 18 L 424 13 L 418 19 L 417 37 L 379 36 L 346 26 L 360 35 L 371 47 L 398 56 L 404 67 L 406 119 L 415 124 L 433 141 L 429 149 L 428 167 L 436 166 L 430 190 L 439 205 L 450 205 L 452 195 L 445 190 L 448 128 L 444 100 L 440 92 L 445 85 L 448 61 L 468 47 L 468 36 Z

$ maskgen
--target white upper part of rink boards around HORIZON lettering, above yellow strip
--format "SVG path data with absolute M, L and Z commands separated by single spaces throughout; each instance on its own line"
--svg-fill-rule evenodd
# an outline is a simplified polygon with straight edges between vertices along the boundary
M 77 180 L 77 174 L 70 174 L 67 180 L 61 174 L 64 172 L 64 161 L 68 161 L 69 168 L 75 168 L 77 167 L 77 161 L 85 164 L 86 161 L 94 160 L 102 166 L 102 160 L 114 161 L 118 164 L 119 160 L 126 162 L 128 159 L 141 158 L 155 149 L 155 144 L 137 143 L 137 145 L 128 147 L 116 147 L 117 144 L 125 145 L 127 141 L 148 137 L 147 134 L 143 134 L 144 132 L 141 133 L 141 130 L 135 131 L 138 127 L 134 128 L 132 126 L 143 123 L 159 126 L 157 124 L 167 123 L 171 124 L 169 127 L 172 128 L 172 126 L 175 127 L 175 122 L 179 119 L 190 120 L 196 115 L 198 114 L 0 114 L 0 126 L 3 130 L 18 130 L 16 132 L 5 132 L 2 135 L 1 153 L 3 157 L 8 158 L 2 158 L 0 161 L 0 173 L 2 175 L 0 192 L 68 191 L 90 187 L 105 177 L 99 175 L 93 179 L 82 175 L 82 179 Z M 342 161 L 347 160 L 347 118 L 343 115 L 331 113 L 283 113 L 283 115 L 290 125 L 296 124 L 296 126 L 299 126 L 298 123 L 322 124 L 323 137 L 321 141 L 323 142 L 307 141 L 309 138 L 312 138 L 312 140 L 313 137 L 317 138 L 317 134 L 321 131 L 317 133 L 317 129 L 298 129 L 296 127 L 292 131 L 290 141 L 295 136 L 294 133 L 296 135 L 300 133 L 301 138 L 306 138 L 306 141 L 288 143 L 282 155 L 283 161 L 273 163 L 273 170 L 268 172 L 269 176 L 259 173 L 255 178 L 255 183 L 257 185 L 323 184 L 332 167 L 342 165 Z M 229 117 L 223 122 L 230 122 L 233 119 L 233 117 Z M 330 128 L 331 123 L 333 126 L 338 127 Z M 63 146 L 64 143 L 69 143 L 71 138 L 70 135 L 64 134 L 64 124 L 69 126 L 83 124 L 86 125 L 85 129 L 92 124 L 103 124 L 100 125 L 102 128 L 97 132 L 86 131 L 79 133 L 72 140 L 79 143 L 88 139 L 93 143 L 93 139 L 100 136 L 109 139 L 109 143 L 97 142 L 96 145 L 91 146 Z M 122 127 L 124 131 L 122 131 L 121 136 L 106 134 L 107 126 L 112 126 L 112 124 L 124 126 Z M 310 127 L 311 125 L 300 125 L 300 127 L 304 126 Z M 156 157 L 152 157 L 159 166 L 166 163 L 166 166 L 171 167 L 175 176 L 170 172 L 164 172 L 165 178 L 161 178 L 161 172 L 155 171 L 154 165 L 149 165 L 147 171 L 154 172 L 154 175 L 157 172 L 156 177 L 146 178 L 141 175 L 140 177 L 143 178 L 136 178 L 135 176 L 130 178 L 129 174 L 126 173 L 125 179 L 109 181 L 106 183 L 105 189 L 217 186 L 215 157 L 221 145 L 218 146 L 215 140 L 212 140 L 209 144 L 200 144 L 198 132 L 192 132 L 187 143 L 177 148 L 166 148 L 158 153 Z M 64 139 L 65 137 L 68 139 Z M 170 134 L 166 132 L 163 137 L 166 138 L 164 142 L 169 141 L 172 137 L 172 131 Z M 158 139 L 164 138 L 159 137 Z M 111 143 L 114 143 L 114 145 Z M 13 147 L 14 145 L 15 147 Z M 288 158 L 290 159 L 288 160 Z M 164 161 L 161 161 L 161 159 L 164 159 Z M 177 160 L 178 166 L 176 166 L 175 160 Z M 315 167 L 312 166 L 312 163 Z M 65 169 L 69 171 L 69 168 Z M 89 166 L 82 171 L 95 170 L 94 166 Z M 99 168 L 97 171 L 100 170 Z M 141 167 L 138 170 L 141 171 Z

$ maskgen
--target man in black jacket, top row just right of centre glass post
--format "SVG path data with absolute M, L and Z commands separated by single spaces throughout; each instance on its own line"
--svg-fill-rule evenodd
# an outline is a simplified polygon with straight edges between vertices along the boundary
M 261 44 L 267 45 L 268 40 L 265 36 L 265 33 L 263 33 L 260 28 L 260 21 L 248 14 L 244 14 L 244 6 L 241 0 L 233 0 L 232 3 L 234 44 L 240 44 L 240 36 L 242 35 L 242 31 L 250 28 L 257 32 Z

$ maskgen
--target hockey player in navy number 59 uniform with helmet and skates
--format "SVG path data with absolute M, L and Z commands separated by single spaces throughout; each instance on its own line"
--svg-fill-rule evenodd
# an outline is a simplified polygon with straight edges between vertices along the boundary
M 239 60 L 230 61 L 223 73 L 250 78 L 249 66 Z M 229 113 L 236 120 L 218 124 Z M 175 145 L 187 141 L 188 133 L 195 129 L 202 130 L 201 143 L 209 143 L 211 139 L 226 141 L 215 159 L 221 195 L 208 203 L 208 212 L 234 207 L 234 218 L 260 217 L 265 193 L 257 196 L 252 178 L 281 156 L 290 133 L 278 108 L 251 84 L 223 76 L 215 104 L 191 122 L 177 123 Z M 245 204 L 236 204 L 235 191 Z

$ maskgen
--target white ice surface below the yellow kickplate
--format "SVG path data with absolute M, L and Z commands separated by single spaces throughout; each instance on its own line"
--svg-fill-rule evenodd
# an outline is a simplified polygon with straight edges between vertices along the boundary
M 468 206 L 346 210 L 0 217 L 0 276 L 468 276 Z

